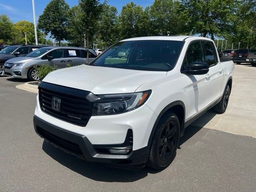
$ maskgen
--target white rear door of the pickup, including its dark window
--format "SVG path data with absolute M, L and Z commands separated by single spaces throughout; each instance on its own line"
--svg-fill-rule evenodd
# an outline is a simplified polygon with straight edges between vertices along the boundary
M 208 92 L 209 104 L 216 101 L 221 96 L 223 82 L 223 68 L 218 61 L 215 45 L 211 41 L 202 41 L 204 48 L 205 61 L 209 65 L 209 72 L 206 78 L 210 82 L 210 91 Z

